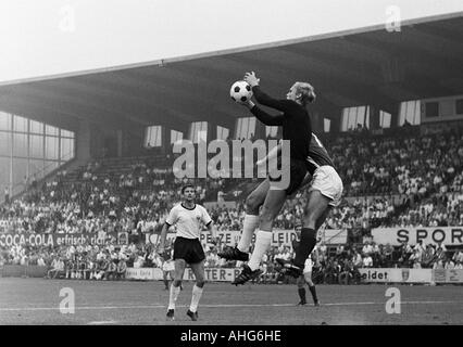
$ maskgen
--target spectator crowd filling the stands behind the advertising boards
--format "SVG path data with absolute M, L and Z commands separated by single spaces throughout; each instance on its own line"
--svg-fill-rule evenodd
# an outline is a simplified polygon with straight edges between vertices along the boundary
M 323 139 L 345 184 L 342 204 L 326 221 L 329 229 L 361 230 L 367 235 L 377 227 L 463 226 L 463 132 L 461 128 L 428 134 L 372 136 L 348 133 Z M 33 184 L 21 197 L 0 206 L 0 233 L 112 234 L 126 232 L 129 242 L 103 246 L 18 245 L 2 247 L 2 264 L 47 265 L 65 275 L 117 278 L 121 268 L 161 267 L 153 246 L 143 243 L 147 233 L 159 232 L 170 208 L 180 200 L 187 182 L 173 172 L 172 158 L 126 158 L 90 162 L 78 170 L 59 171 Z M 197 201 L 223 201 L 246 180 L 197 179 Z M 190 181 L 188 181 L 190 182 Z M 247 183 L 256 183 L 247 179 Z M 249 185 L 248 184 L 248 185 Z M 237 195 L 237 194 L 235 194 Z M 275 228 L 293 229 L 302 218 L 306 191 L 288 200 L 275 219 Z M 235 207 L 209 209 L 218 230 L 240 230 L 245 202 Z M 326 246 L 325 246 L 326 247 Z M 366 248 L 365 248 L 366 247 Z M 417 247 L 417 248 L 416 248 Z M 230 266 L 208 250 L 207 266 Z M 292 256 L 292 249 L 271 249 L 264 261 L 272 273 L 276 257 Z M 362 267 L 460 268 L 461 252 L 447 257 L 441 246 L 348 244 L 334 255 L 322 252 L 317 264 L 324 281 L 354 278 Z M 399 256 L 400 254 L 400 256 Z M 459 255 L 460 254 L 460 255 Z M 350 269 L 350 270 L 349 270 Z M 353 271 L 353 272 L 352 272 Z M 57 271 L 50 272 L 53 277 Z M 66 274 L 67 273 L 67 274 Z M 326 277 L 326 274 L 329 274 Z M 326 279 L 325 279 L 326 277 Z

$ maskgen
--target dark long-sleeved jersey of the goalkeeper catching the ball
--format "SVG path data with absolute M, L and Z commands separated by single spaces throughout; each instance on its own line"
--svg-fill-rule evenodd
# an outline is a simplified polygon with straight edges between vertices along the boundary
M 259 86 L 252 88 L 255 100 L 265 106 L 283 112 L 279 115 L 270 115 L 263 110 L 254 106 L 252 114 L 267 126 L 283 127 L 283 140 L 290 141 L 291 158 L 306 160 L 311 139 L 306 136 L 312 133 L 312 124 L 305 107 L 292 100 L 276 100 L 265 94 Z

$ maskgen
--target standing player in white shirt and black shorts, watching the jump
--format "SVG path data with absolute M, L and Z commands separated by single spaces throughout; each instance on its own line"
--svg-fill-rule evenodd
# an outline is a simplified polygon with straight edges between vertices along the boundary
M 216 241 L 216 230 L 208 211 L 201 205 L 195 204 L 195 187 L 187 184 L 182 189 L 184 201 L 175 205 L 168 214 L 165 224 L 162 228 L 161 241 L 158 252 L 164 254 L 165 237 L 167 229 L 176 226 L 177 236 L 174 242 L 175 275 L 171 285 L 171 294 L 167 308 L 167 319 L 174 320 L 175 301 L 180 293 L 182 280 L 187 264 L 196 278 L 192 288 L 191 305 L 187 314 L 191 320 L 198 320 L 198 304 L 204 286 L 204 250 L 199 241 L 202 224 L 208 227 L 212 240 Z

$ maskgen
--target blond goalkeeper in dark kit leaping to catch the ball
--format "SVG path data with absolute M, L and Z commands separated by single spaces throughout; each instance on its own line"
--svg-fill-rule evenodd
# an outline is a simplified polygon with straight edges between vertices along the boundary
M 241 273 L 233 282 L 236 285 L 243 284 L 260 275 L 261 259 L 272 242 L 273 220 L 281 209 L 287 196 L 301 187 L 308 172 L 306 157 L 309 156 L 311 139 L 306 134 L 312 133 L 312 125 L 305 106 L 315 100 L 313 87 L 305 82 L 296 82 L 289 89 L 286 100 L 276 100 L 261 90 L 260 79 L 255 77 L 254 73 L 247 73 L 243 79 L 252 87 L 254 98 L 260 104 L 281 112 L 278 115 L 270 115 L 252 101 L 243 103 L 263 124 L 283 127 L 283 140 L 288 140 L 290 144 L 290 180 L 288 188 L 283 190 L 276 184 L 276 180 L 270 176 L 251 193 L 251 197 L 248 197 L 245 230 L 240 242 L 237 248 L 229 247 L 220 254 L 225 259 L 248 260 L 247 252 L 253 231 L 259 224 L 254 250 L 248 265 L 243 266 Z M 259 217 L 261 205 L 263 205 L 263 208 Z

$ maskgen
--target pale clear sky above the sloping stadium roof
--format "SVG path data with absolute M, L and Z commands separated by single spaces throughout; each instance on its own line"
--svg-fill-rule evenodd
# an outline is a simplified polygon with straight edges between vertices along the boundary
M 461 11 L 462 0 L 0 0 L 0 83 Z

